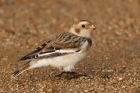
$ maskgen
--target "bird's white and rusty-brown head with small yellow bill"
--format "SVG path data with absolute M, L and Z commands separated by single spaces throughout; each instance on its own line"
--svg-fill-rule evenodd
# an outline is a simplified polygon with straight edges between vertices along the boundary
M 70 28 L 70 32 L 78 36 L 90 37 L 91 31 L 95 29 L 95 26 L 86 20 L 80 20 L 75 22 Z

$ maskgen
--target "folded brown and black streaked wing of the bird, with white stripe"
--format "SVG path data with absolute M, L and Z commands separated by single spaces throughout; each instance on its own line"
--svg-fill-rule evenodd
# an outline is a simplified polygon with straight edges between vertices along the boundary
M 33 52 L 19 59 L 19 61 L 51 58 L 79 52 L 81 45 L 85 41 L 86 38 L 84 37 L 64 32 L 48 40 L 41 47 L 36 48 Z

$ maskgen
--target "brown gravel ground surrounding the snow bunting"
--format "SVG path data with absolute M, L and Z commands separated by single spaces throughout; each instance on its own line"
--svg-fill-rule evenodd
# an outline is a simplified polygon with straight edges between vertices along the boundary
M 12 79 L 17 60 L 76 20 L 96 30 L 88 56 L 56 78 L 42 67 Z M 0 93 L 140 93 L 140 0 L 0 0 Z

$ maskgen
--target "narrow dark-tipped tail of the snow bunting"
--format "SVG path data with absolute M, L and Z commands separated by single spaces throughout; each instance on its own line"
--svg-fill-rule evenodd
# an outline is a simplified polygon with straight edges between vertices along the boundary
M 18 75 L 20 75 L 21 73 L 23 73 L 24 71 L 29 69 L 29 62 L 27 62 L 21 69 L 16 70 L 13 74 L 12 77 L 17 77 Z

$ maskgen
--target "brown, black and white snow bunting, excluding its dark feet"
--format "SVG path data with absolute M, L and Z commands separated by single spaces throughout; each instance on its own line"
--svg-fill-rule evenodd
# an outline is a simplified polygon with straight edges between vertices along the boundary
M 48 39 L 33 52 L 19 59 L 19 62 L 27 62 L 12 76 L 16 77 L 26 70 L 49 65 L 60 68 L 64 72 L 70 72 L 74 65 L 89 52 L 92 45 L 90 34 L 94 29 L 90 21 L 75 22 L 69 32 L 63 32 Z

